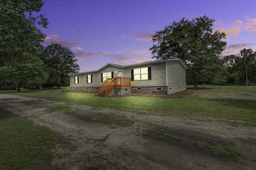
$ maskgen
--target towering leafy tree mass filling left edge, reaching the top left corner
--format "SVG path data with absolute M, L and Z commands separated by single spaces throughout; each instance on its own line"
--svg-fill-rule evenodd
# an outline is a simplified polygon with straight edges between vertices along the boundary
M 20 86 L 43 83 L 42 61 L 38 50 L 44 34 L 38 25 L 47 27 L 48 21 L 39 14 L 42 0 L 0 0 L 0 77 L 13 80 Z

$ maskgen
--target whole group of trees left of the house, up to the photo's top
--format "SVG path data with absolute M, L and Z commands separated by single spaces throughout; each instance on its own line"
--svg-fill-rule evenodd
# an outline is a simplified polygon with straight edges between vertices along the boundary
M 52 88 L 67 86 L 68 74 L 79 65 L 73 52 L 59 44 L 42 45 L 48 19 L 39 14 L 41 0 L 0 1 L 0 80 L 21 87 Z

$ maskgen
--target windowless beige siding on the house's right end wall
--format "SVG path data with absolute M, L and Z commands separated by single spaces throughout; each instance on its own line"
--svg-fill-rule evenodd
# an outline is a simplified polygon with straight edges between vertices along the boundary
M 168 86 L 185 85 L 186 71 L 179 61 L 167 62 Z

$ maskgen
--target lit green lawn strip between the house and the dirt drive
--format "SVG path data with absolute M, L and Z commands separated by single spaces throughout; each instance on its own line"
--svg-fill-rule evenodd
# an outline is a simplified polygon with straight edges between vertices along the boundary
M 224 118 L 225 121 L 231 121 L 235 124 L 237 121 L 242 121 L 243 124 L 256 125 L 256 100 L 200 97 L 201 93 L 209 92 L 215 94 L 220 92 L 226 92 L 228 94 L 235 94 L 236 92 L 255 94 L 255 86 L 201 87 L 205 88 L 196 90 L 196 93 L 199 95 L 184 98 L 144 96 L 101 97 L 95 94 L 63 92 L 63 90 L 27 91 L 14 94 L 63 101 L 70 104 L 88 105 L 96 108 L 112 108 L 138 113 L 179 114 L 185 116 Z

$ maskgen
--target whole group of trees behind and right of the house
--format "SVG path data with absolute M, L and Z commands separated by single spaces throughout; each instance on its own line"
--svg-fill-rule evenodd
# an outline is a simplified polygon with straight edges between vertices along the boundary
M 195 87 L 199 83 L 255 85 L 256 52 L 242 49 L 239 56 L 220 57 L 226 34 L 213 31 L 213 23 L 207 16 L 172 22 L 152 36 L 153 58 L 182 59 L 188 67 L 187 83 Z

